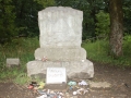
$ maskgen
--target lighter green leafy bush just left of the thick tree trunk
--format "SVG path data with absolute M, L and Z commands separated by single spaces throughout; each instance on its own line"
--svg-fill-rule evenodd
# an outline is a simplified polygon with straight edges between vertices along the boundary
M 96 35 L 108 38 L 109 25 L 110 25 L 109 13 L 99 11 L 99 13 L 96 14 L 96 20 L 97 20 L 96 28 L 95 28 Z

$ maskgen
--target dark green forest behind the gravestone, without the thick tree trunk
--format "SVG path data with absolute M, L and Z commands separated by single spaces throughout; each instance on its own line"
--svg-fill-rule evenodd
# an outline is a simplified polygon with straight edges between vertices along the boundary
M 83 11 L 83 40 L 102 34 L 107 37 L 110 29 L 109 1 L 111 0 L 0 0 L 0 42 L 16 36 L 38 36 L 38 11 L 53 5 Z M 123 34 L 131 34 L 131 1 L 119 2 L 122 2 L 123 10 Z

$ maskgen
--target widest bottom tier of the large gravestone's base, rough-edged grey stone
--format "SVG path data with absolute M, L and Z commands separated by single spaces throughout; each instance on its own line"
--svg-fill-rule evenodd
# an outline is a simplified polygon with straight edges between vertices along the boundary
M 29 61 L 27 75 L 46 74 L 47 68 L 66 68 L 68 78 L 92 78 L 94 66 L 90 60 L 82 61 Z

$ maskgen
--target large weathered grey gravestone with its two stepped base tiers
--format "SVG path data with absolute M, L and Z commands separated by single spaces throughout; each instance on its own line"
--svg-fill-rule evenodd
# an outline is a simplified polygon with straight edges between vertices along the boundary
M 82 44 L 83 12 L 50 7 L 38 12 L 39 45 L 35 60 L 27 63 L 28 76 L 46 74 L 47 68 L 66 68 L 69 78 L 91 78 L 94 66 Z

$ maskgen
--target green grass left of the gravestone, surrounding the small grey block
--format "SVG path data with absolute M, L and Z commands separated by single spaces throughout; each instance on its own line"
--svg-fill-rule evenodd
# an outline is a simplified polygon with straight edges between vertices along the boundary
M 15 78 L 19 74 L 26 73 L 26 63 L 34 60 L 34 51 L 38 47 L 37 37 L 13 39 L 12 42 L 0 46 L 0 79 Z M 8 69 L 7 58 L 20 58 L 21 65 Z

